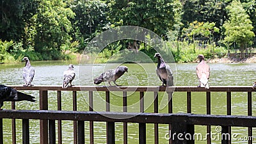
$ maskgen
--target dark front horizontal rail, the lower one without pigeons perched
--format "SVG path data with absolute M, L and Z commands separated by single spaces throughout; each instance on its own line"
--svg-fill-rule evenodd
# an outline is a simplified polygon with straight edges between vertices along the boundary
M 108 111 L 29 111 L 3 109 L 0 111 L 0 118 L 35 120 L 79 120 L 94 122 L 131 122 L 150 124 L 170 124 L 173 120 L 179 120 L 180 122 L 185 122 L 189 125 L 256 127 L 256 116 L 196 115 L 189 113 L 116 113 Z

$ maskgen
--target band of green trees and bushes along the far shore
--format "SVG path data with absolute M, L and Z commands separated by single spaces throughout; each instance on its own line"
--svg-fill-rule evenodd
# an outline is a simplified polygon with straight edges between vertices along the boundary
M 245 45 L 256 42 L 253 39 L 255 0 L 241 0 L 241 3 L 231 0 L 2 0 L 0 3 L 0 61 L 6 62 L 19 61 L 23 56 L 31 60 L 69 60 L 74 58 L 73 52 L 84 49 L 93 54 L 100 45 L 86 47 L 93 37 L 106 29 L 127 25 L 150 29 L 163 40 L 169 40 L 175 61 L 193 61 L 200 52 L 206 58 L 223 56 L 226 48 L 214 45 L 220 42 L 227 47 L 236 42 L 242 52 Z M 189 42 L 179 41 L 188 39 Z M 124 55 L 118 52 L 127 49 L 131 41 L 108 45 L 99 54 L 100 61 L 114 54 L 122 58 Z M 152 47 L 137 44 L 141 52 L 154 60 L 156 51 Z

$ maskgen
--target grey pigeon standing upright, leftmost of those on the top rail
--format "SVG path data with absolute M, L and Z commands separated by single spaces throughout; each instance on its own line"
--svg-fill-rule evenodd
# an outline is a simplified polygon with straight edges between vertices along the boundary
M 23 86 L 33 86 L 31 82 L 35 76 L 35 69 L 31 66 L 28 57 L 24 57 L 22 61 L 26 61 L 25 67 L 23 68 L 23 79 L 25 83 Z

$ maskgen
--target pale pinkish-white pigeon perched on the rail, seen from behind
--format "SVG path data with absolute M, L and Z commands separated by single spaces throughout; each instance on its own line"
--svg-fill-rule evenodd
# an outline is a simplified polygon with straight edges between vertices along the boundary
M 203 54 L 199 54 L 198 58 L 200 60 L 200 63 L 198 63 L 196 67 L 196 75 L 200 83 L 198 87 L 205 87 L 209 89 L 208 80 L 210 76 L 210 67 L 205 63 Z

